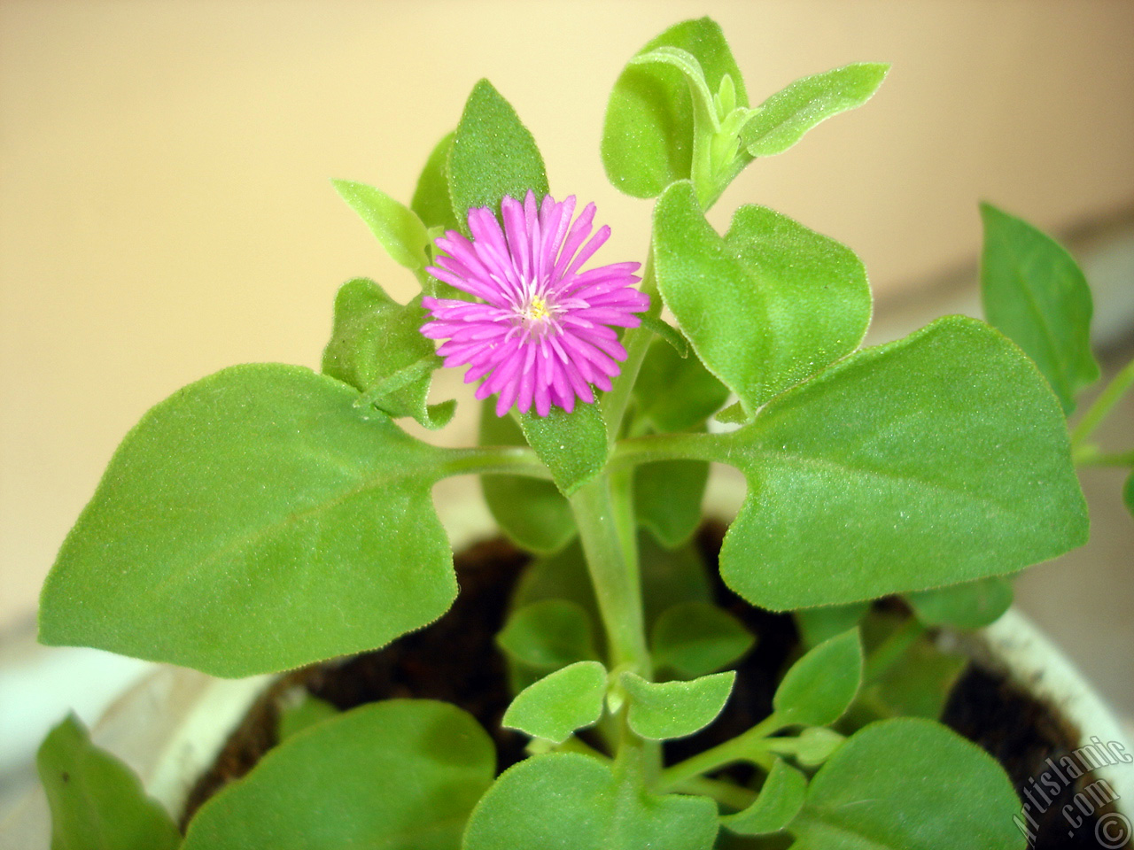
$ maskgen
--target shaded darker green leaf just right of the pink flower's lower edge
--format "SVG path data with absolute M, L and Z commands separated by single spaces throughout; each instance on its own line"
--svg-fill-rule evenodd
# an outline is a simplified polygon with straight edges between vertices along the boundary
M 688 431 L 728 399 L 728 388 L 696 357 L 682 357 L 661 340 L 650 343 L 634 384 L 636 416 L 657 431 Z

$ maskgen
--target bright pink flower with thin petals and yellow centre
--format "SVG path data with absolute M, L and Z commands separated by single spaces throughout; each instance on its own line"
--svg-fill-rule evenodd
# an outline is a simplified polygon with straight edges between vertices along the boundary
M 591 384 L 610 389 L 616 360 L 626 359 L 613 326 L 640 324 L 635 313 L 650 306 L 634 289 L 637 263 L 615 263 L 579 272 L 610 236 L 603 226 L 591 236 L 594 204 L 572 223 L 575 197 L 556 203 L 545 196 L 536 210 L 500 204 L 503 228 L 489 207 L 468 211 L 472 241 L 450 230 L 437 246 L 445 252 L 426 271 L 481 299 L 423 298 L 433 321 L 422 326 L 446 366 L 468 366 L 465 383 L 485 379 L 476 398 L 497 398 L 497 416 L 515 405 L 535 406 L 547 416 L 557 405 L 570 413 L 575 399 L 594 401 Z M 586 243 L 584 245 L 584 241 Z

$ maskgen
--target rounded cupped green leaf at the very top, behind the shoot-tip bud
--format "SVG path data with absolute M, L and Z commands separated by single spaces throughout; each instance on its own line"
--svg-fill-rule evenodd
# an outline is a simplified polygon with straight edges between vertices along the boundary
M 685 20 L 648 43 L 637 56 L 659 48 L 692 54 L 705 84 L 718 92 L 733 80 L 735 104 L 747 93 L 720 26 L 709 18 Z M 627 65 L 615 83 L 602 129 L 602 164 L 615 188 L 634 197 L 657 197 L 675 180 L 691 177 L 694 107 L 686 76 L 669 65 Z

